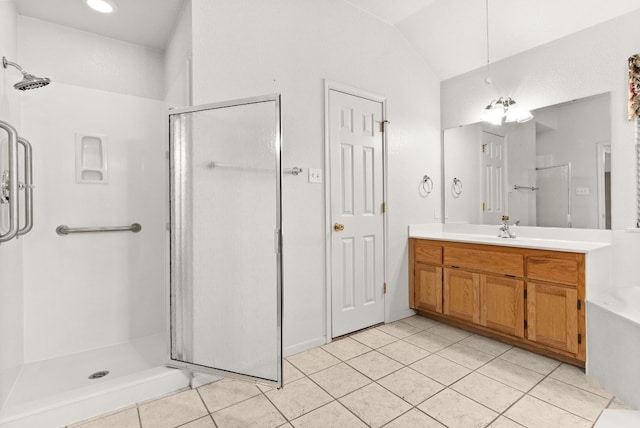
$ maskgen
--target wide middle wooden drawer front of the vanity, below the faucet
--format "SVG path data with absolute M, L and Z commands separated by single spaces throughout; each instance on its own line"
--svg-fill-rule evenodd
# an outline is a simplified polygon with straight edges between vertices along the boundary
M 502 251 L 445 247 L 444 264 L 502 275 L 524 276 L 524 257 Z

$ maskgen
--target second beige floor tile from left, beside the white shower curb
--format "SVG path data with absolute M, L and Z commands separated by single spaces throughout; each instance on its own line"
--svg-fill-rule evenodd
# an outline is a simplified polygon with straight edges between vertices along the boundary
M 208 414 L 195 389 L 142 404 L 138 410 L 143 428 L 173 428 Z

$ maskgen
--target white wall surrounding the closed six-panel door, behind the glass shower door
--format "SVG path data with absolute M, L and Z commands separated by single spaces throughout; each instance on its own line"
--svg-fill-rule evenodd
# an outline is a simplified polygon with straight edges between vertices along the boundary
M 387 282 L 391 319 L 408 311 L 407 225 L 437 221 L 438 82 L 404 38 L 339 0 L 194 0 L 194 104 L 282 93 L 283 166 L 324 168 L 323 79 L 388 99 Z M 326 173 L 326 171 L 325 171 Z M 436 180 L 436 189 L 439 183 Z M 283 180 L 286 352 L 326 340 L 324 186 Z

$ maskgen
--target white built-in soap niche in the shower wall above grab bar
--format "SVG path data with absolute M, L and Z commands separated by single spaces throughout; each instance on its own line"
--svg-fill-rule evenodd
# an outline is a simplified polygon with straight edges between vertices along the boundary
M 107 136 L 76 134 L 76 183 L 106 184 Z

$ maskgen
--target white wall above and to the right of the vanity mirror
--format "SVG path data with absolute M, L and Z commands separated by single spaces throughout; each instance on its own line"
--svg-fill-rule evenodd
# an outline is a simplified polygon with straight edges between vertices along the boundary
M 477 122 L 479 111 L 498 95 L 539 108 L 590 95 L 611 93 L 612 227 L 636 224 L 635 127 L 627 120 L 627 58 L 640 52 L 640 12 L 588 28 L 563 39 L 441 83 L 442 127 Z M 640 234 L 613 233 L 614 285 L 637 285 Z

